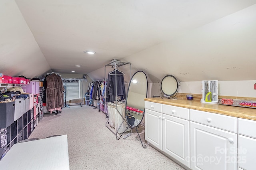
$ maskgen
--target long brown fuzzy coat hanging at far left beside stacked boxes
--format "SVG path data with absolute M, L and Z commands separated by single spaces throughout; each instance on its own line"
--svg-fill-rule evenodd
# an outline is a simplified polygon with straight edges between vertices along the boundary
M 62 79 L 55 73 L 46 77 L 46 109 L 59 110 L 64 106 L 64 86 Z

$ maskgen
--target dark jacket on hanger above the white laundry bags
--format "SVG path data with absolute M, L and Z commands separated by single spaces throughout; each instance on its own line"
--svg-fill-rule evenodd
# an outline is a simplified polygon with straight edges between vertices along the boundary
M 108 74 L 108 84 L 106 86 L 106 102 L 115 101 L 116 95 L 122 96 L 123 99 L 126 99 L 124 75 Z

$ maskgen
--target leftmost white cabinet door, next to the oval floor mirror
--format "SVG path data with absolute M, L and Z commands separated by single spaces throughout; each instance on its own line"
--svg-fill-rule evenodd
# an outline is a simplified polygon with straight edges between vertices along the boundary
M 162 150 L 162 113 L 145 109 L 145 140 Z

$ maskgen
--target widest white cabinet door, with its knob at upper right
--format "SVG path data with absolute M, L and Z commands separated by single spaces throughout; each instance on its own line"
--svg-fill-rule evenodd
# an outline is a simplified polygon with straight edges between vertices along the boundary
M 190 168 L 236 170 L 237 134 L 190 121 Z

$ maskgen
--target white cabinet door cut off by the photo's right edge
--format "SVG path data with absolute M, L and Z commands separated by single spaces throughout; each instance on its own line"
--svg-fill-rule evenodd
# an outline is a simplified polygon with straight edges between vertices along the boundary
M 256 168 L 256 139 L 238 134 L 238 167 L 245 170 Z

